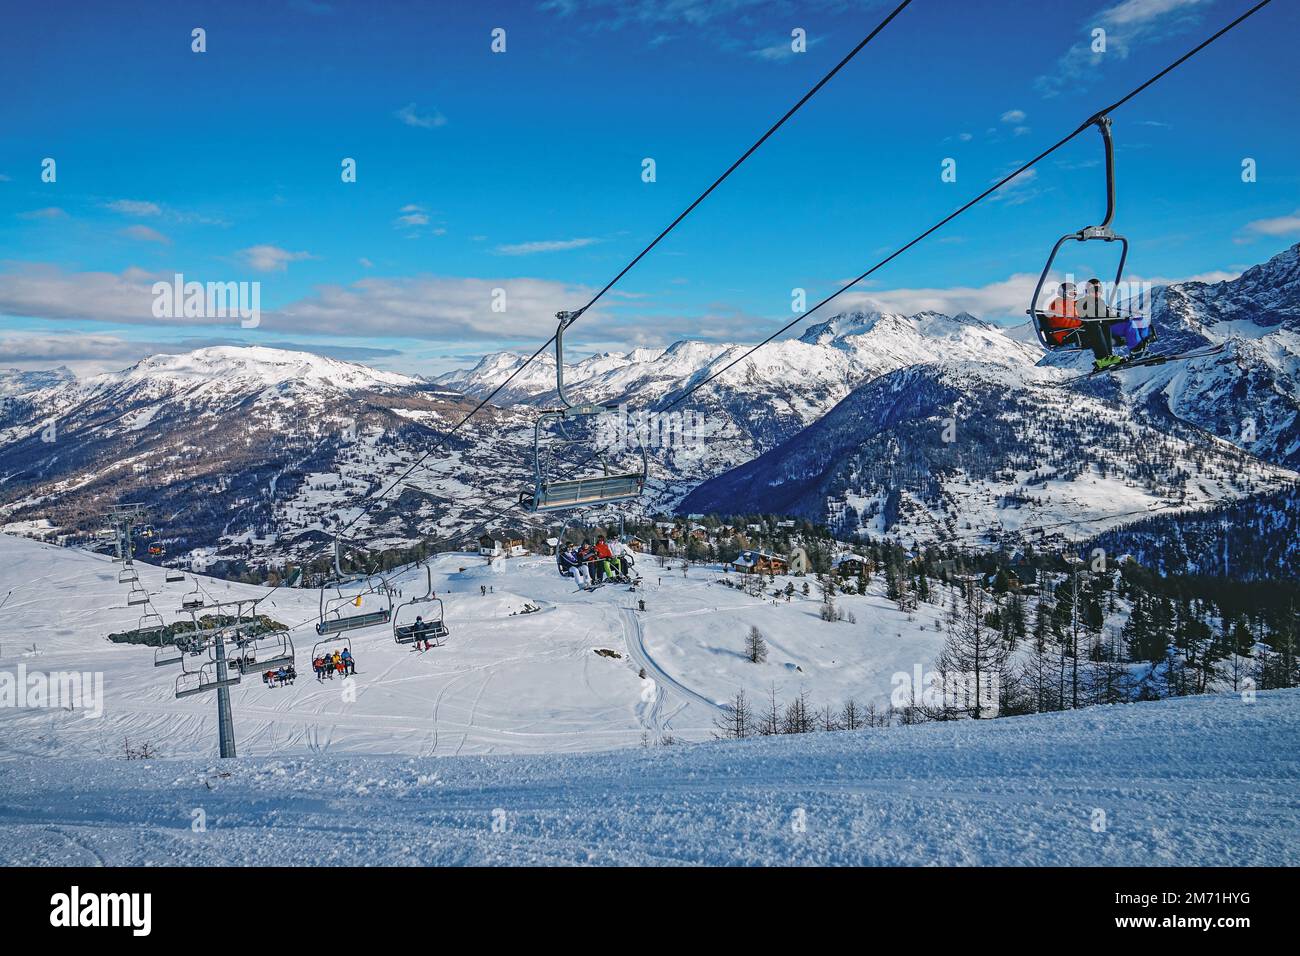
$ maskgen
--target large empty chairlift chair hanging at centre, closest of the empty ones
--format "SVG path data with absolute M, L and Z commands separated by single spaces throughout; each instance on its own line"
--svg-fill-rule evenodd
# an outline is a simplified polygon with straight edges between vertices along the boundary
M 573 324 L 581 315 L 578 312 L 558 312 L 559 328 L 555 332 L 555 392 L 559 395 L 562 407 L 549 408 L 537 418 L 533 427 L 533 488 L 521 492 L 519 502 L 529 511 L 556 511 L 567 507 L 584 507 L 589 505 L 607 505 L 615 501 L 628 501 L 640 498 L 645 490 L 646 476 L 650 471 L 650 460 L 646 455 L 645 444 L 641 436 L 633 429 L 632 434 L 641 454 L 641 468 L 636 471 L 611 471 L 604 455 L 601 459 L 599 475 L 584 475 L 576 479 L 558 479 L 552 475 L 554 458 L 546 463 L 542 442 L 542 431 L 547 425 L 554 425 L 558 436 L 546 440 L 546 446 L 555 450 L 567 445 L 584 445 L 581 438 L 571 438 L 567 424 L 580 424 L 584 420 L 594 419 L 598 415 L 616 412 L 618 405 L 573 405 L 564 393 L 564 329 Z

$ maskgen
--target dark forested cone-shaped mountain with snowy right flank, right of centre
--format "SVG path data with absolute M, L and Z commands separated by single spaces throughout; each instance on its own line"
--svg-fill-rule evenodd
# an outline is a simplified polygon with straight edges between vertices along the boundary
M 681 510 L 975 544 L 1045 522 L 1206 507 L 1294 479 L 1195 428 L 1161 428 L 1062 389 L 1053 369 L 967 362 L 875 378 L 777 449 L 699 485 Z

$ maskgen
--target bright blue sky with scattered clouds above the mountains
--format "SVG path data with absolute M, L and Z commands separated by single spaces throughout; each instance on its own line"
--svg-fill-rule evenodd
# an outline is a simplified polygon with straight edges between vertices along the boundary
M 0 365 L 246 342 L 432 375 L 533 346 L 892 5 L 9 5 Z M 572 337 L 754 341 L 793 287 L 832 291 L 1248 5 L 915 0 Z M 1228 276 L 1300 239 L 1297 26 L 1277 0 L 1114 116 L 1135 276 Z M 1052 241 L 1100 219 L 1098 157 L 1075 140 L 844 304 L 1013 321 Z M 260 282 L 260 326 L 153 317 L 177 272 Z

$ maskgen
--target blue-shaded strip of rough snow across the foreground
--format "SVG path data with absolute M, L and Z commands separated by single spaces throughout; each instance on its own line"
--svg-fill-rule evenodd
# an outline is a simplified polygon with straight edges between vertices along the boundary
M 1295 866 L 1297 736 L 1274 691 L 604 754 L 21 758 L 0 864 Z

